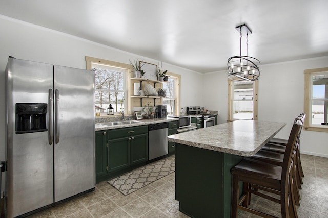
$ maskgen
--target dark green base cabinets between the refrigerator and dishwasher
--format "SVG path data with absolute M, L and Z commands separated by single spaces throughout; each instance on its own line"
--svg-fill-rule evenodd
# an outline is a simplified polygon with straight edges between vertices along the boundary
M 148 126 L 96 132 L 96 183 L 148 161 Z

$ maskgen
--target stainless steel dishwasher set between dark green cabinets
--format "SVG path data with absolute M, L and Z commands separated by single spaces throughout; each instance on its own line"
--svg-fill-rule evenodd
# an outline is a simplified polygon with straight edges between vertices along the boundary
M 169 123 L 150 124 L 148 131 L 149 160 L 167 155 L 169 153 Z

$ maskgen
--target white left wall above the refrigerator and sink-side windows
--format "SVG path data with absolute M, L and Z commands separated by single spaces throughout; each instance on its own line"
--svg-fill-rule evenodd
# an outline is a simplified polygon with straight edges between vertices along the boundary
M 31 25 L 0 15 L 0 160 L 5 160 L 5 68 L 8 56 L 56 65 L 86 68 L 85 56 L 129 64 L 129 59 L 157 64 L 153 60 L 108 46 Z M 199 105 L 202 75 L 163 63 L 163 69 L 181 75 L 181 105 Z

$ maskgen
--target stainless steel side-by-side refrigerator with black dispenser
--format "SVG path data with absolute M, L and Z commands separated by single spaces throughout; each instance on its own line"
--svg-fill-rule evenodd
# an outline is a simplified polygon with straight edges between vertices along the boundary
M 95 187 L 94 72 L 8 58 L 7 211 Z

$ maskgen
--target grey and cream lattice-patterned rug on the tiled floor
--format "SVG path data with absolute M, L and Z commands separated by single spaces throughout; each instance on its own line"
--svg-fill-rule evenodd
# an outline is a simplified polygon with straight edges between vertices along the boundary
M 107 181 L 123 195 L 130 193 L 175 171 L 174 158 L 161 159 L 146 166 L 134 169 L 125 175 Z

